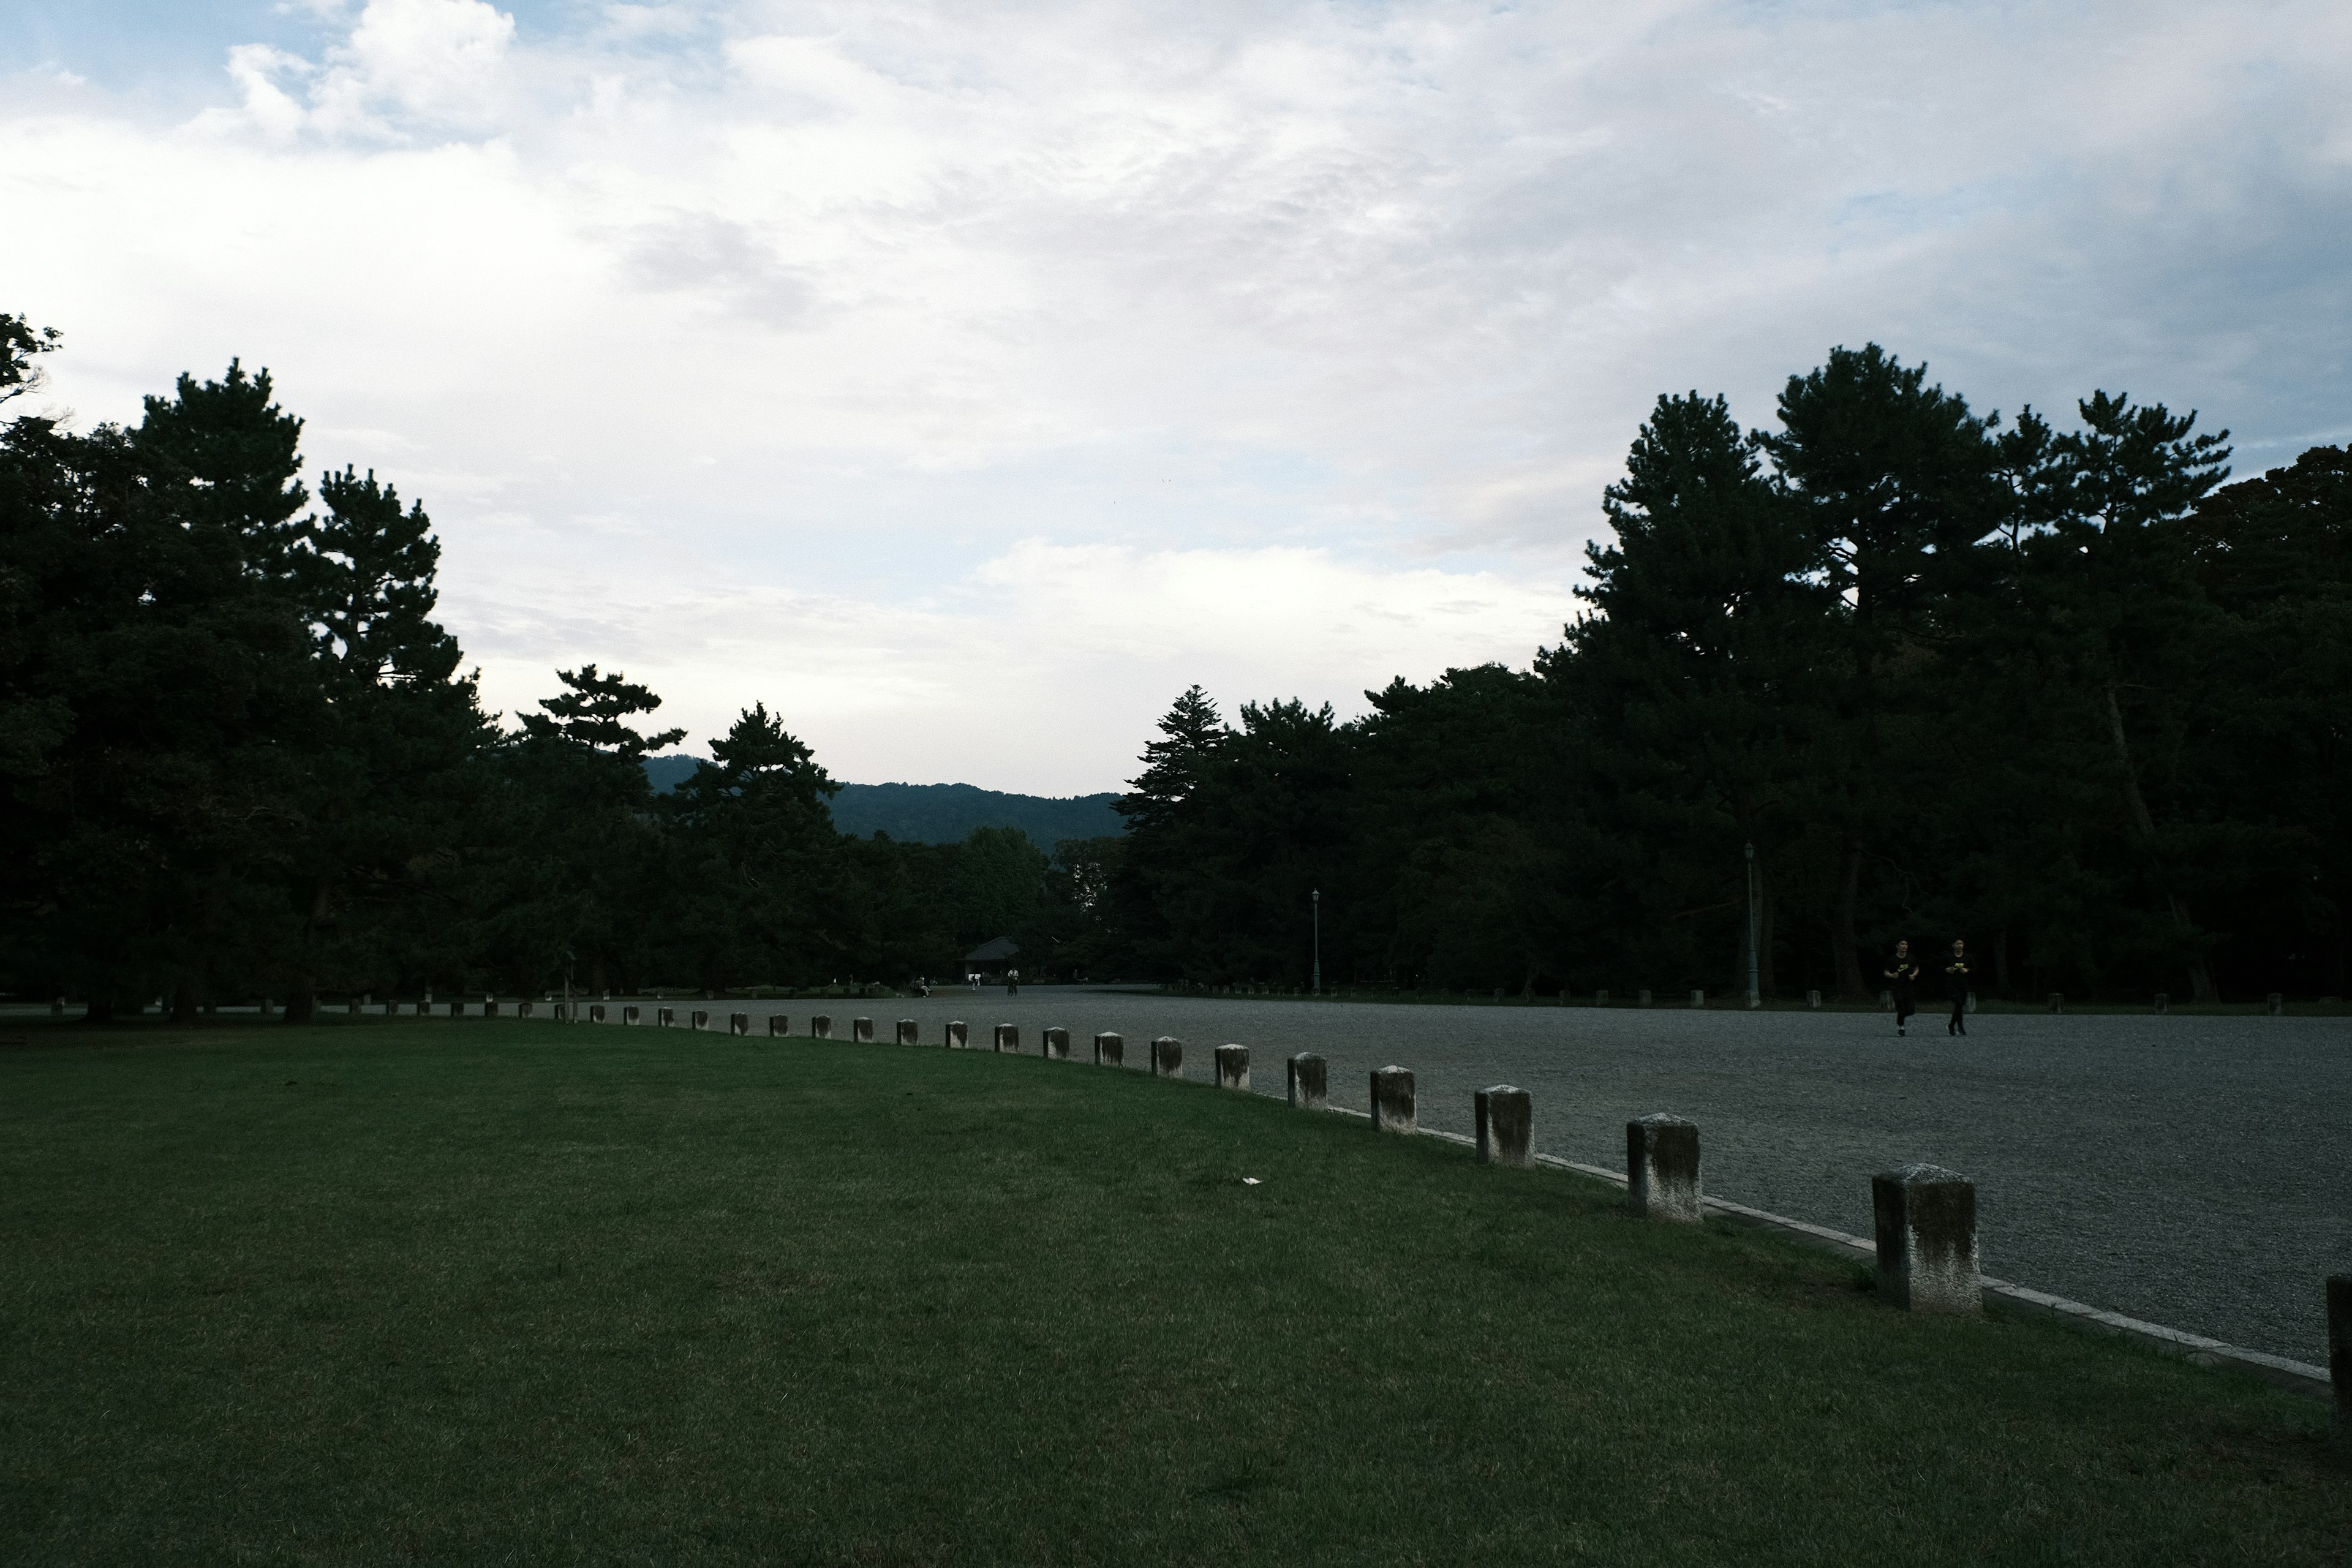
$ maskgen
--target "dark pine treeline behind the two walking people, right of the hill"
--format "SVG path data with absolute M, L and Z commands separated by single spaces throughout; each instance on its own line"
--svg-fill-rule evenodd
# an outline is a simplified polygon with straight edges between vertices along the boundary
M 1195 689 L 1089 940 L 1197 983 L 1870 994 L 1966 936 L 2037 997 L 2343 994 L 2352 456 L 2077 428 L 1879 348 L 1778 425 L 1661 397 L 1534 668 L 1235 724 Z

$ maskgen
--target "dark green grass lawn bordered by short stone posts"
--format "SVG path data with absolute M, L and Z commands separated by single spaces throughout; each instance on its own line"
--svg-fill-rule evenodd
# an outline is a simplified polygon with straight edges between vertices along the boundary
M 515 1020 L 28 1037 L 7 1563 L 2352 1542 L 2317 1401 L 1202 1084 Z

